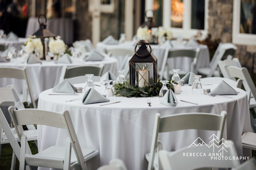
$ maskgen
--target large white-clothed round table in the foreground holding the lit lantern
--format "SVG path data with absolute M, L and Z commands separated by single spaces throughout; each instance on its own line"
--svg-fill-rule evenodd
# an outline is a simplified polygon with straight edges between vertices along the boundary
M 101 85 L 96 87 L 96 90 L 102 93 L 103 84 L 100 82 L 95 84 Z M 76 84 L 76 86 L 84 86 L 84 84 Z M 216 85 L 207 86 L 211 90 L 215 87 Z M 48 94 L 60 93 L 54 93 L 49 89 L 39 95 L 38 109 L 70 112 L 81 147 L 99 150 L 99 155 L 88 161 L 89 169 L 108 164 L 112 158 L 120 158 L 124 160 L 128 169 L 142 170 L 147 169 L 148 166 L 144 154 L 150 152 L 156 113 L 160 113 L 161 116 L 192 112 L 220 115 L 221 111 L 227 111 L 223 138 L 232 140 L 238 155 L 242 156 L 241 135 L 250 131 L 250 115 L 246 92 L 235 89 L 239 92 L 238 95 L 230 95 L 232 98 L 226 98 L 204 94 L 192 95 L 191 86 L 182 86 L 182 93 L 176 95 L 178 104 L 175 107 L 160 104 L 158 97 L 114 97 L 110 102 L 84 105 L 81 100 L 65 102 L 81 99 L 84 93 L 78 93 L 79 96 L 54 96 Z M 151 100 L 152 107 L 148 107 L 148 99 Z M 198 105 L 180 102 L 180 100 Z M 100 106 L 117 101 L 121 102 Z M 53 145 L 65 146 L 68 137 L 66 131 L 45 125 L 38 125 L 37 128 L 39 152 Z M 197 137 L 209 143 L 209 137 L 213 133 L 216 134 L 214 131 L 181 130 L 162 133 L 158 140 L 162 141 L 164 149 L 173 151 L 191 145 Z

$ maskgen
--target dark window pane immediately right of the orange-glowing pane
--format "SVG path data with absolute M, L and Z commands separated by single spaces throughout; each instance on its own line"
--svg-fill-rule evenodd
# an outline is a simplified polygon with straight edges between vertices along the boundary
M 191 4 L 191 29 L 204 29 L 205 0 L 193 0 Z

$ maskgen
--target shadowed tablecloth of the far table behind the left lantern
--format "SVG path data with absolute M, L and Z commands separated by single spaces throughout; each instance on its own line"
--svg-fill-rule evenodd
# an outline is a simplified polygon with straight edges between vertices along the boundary
M 39 29 L 38 18 L 29 18 L 26 37 L 33 35 Z M 50 18 L 47 20 L 47 29 L 54 35 L 60 35 L 61 39 L 67 44 L 74 42 L 74 20 L 68 18 Z

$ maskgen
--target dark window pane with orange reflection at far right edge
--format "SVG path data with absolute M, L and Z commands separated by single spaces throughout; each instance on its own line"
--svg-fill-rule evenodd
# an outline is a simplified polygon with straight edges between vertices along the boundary
M 240 33 L 256 34 L 256 3 L 241 0 Z

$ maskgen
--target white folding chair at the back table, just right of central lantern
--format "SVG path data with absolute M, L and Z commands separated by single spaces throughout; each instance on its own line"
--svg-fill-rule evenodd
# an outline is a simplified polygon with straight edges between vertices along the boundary
M 176 49 L 176 50 L 170 50 L 166 49 L 164 53 L 164 59 L 162 63 L 162 68 L 160 71 L 160 79 L 162 80 L 163 78 L 165 80 L 170 79 L 170 71 L 168 70 L 168 59 L 169 58 L 174 58 L 174 57 L 189 57 L 193 59 L 193 62 L 191 63 L 190 71 L 194 72 L 196 65 L 198 63 L 198 56 L 200 53 L 200 49 L 197 48 L 196 50 L 192 49 Z M 179 71 L 179 74 L 185 75 L 187 72 L 182 72 L 182 70 Z

